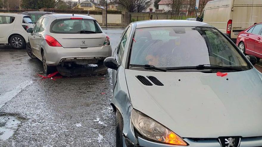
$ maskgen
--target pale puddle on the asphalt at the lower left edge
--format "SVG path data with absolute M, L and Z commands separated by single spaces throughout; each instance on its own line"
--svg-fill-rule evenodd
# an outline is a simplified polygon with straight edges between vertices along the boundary
M 14 116 L 0 116 L 0 140 L 11 137 L 20 123 Z

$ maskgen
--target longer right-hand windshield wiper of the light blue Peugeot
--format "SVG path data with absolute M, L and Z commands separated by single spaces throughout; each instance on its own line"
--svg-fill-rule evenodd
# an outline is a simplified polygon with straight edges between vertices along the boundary
M 242 68 L 236 67 L 223 67 L 220 65 L 213 65 L 213 64 L 199 64 L 197 66 L 190 66 L 190 67 L 168 67 L 167 70 L 180 70 L 180 69 L 223 69 L 223 70 L 236 70 L 236 71 L 243 71 Z

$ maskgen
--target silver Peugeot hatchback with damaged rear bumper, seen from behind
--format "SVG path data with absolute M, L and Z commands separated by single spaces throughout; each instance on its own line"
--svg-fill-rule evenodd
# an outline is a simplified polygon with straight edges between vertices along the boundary
M 46 74 L 53 72 L 54 67 L 65 76 L 107 72 L 103 61 L 112 55 L 112 48 L 109 37 L 94 18 L 74 14 L 44 15 L 34 29 L 27 32 L 31 33 L 27 53 L 43 62 Z M 91 72 L 74 68 L 94 64 L 96 66 L 91 66 Z

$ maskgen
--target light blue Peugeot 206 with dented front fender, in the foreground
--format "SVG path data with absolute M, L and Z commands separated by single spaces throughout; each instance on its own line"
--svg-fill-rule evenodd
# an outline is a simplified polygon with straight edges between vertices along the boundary
M 104 61 L 113 69 L 116 146 L 261 147 L 256 62 L 206 23 L 131 23 Z

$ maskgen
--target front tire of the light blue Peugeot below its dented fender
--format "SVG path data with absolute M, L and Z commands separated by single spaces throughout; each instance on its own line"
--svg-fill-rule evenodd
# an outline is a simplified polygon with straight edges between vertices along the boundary
M 116 147 L 123 147 L 123 118 L 116 109 Z

